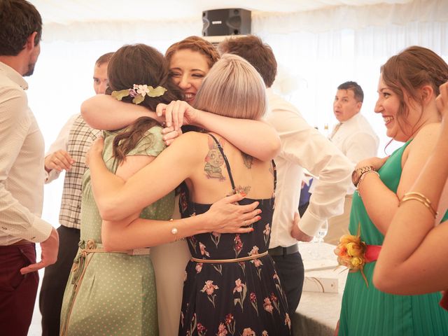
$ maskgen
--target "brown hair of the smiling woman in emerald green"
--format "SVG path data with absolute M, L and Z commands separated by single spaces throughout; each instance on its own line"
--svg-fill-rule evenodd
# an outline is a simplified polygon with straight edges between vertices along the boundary
M 403 130 L 402 123 L 409 125 L 409 106 L 405 102 L 405 93 L 418 103 L 422 102 L 418 90 L 423 85 L 433 87 L 436 96 L 440 94 L 439 86 L 448 80 L 448 64 L 432 50 L 414 45 L 389 58 L 381 66 L 381 75 L 384 83 L 400 99 L 397 121 Z M 419 120 L 422 115 L 423 110 Z

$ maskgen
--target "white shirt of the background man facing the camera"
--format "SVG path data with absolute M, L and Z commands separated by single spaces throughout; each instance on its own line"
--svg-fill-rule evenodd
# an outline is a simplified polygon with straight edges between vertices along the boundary
M 379 138 L 360 113 L 342 123 L 332 136 L 331 142 L 349 158 L 353 169 L 360 160 L 378 155 Z M 347 194 L 351 195 L 354 191 L 355 187 L 350 184 Z

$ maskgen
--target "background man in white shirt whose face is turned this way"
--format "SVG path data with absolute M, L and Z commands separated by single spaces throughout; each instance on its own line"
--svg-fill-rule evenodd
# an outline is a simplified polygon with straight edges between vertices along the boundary
M 333 111 L 339 121 L 329 139 L 355 165 L 365 158 L 377 156 L 379 139 L 367 119 L 360 114 L 364 92 L 356 82 L 345 82 L 337 87 Z M 344 214 L 328 221 L 325 242 L 338 244 L 339 238 L 349 232 L 351 200 L 355 188 L 350 185 L 344 202 Z

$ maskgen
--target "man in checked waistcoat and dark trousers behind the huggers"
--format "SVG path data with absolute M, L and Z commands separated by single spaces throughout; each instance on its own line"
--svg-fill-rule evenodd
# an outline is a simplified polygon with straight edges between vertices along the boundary
M 96 94 L 106 92 L 109 83 L 107 66 L 112 55 L 113 52 L 108 52 L 95 62 L 93 89 Z M 65 170 L 66 173 L 59 212 L 60 226 L 57 228 L 61 244 L 59 245 L 57 262 L 45 269 L 39 295 L 42 336 L 59 336 L 62 297 L 64 297 L 73 258 L 78 251 L 80 237 L 81 183 L 87 169 L 85 153 L 90 148 L 92 141 L 101 134 L 101 131 L 89 127 L 80 113 L 77 113 L 62 127 L 57 139 L 50 146 L 48 154 L 45 156 L 45 171 L 48 172 L 46 183 L 57 179 L 62 170 Z

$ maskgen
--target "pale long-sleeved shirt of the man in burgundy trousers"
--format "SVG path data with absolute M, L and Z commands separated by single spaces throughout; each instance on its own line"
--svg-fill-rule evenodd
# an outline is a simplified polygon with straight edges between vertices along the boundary
M 43 137 L 28 107 L 27 82 L 0 62 L 0 246 L 40 242 L 52 225 L 43 204 Z

